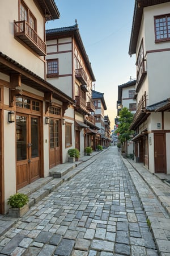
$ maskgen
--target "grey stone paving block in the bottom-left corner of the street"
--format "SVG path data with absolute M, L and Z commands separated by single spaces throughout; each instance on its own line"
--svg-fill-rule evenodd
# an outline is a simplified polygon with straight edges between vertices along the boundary
M 3 247 L 1 253 L 9 255 L 12 251 L 14 251 L 16 247 L 18 247 L 19 243 L 23 240 L 23 238 L 24 236 L 22 234 L 16 234 L 16 236 L 13 237 L 5 247 Z

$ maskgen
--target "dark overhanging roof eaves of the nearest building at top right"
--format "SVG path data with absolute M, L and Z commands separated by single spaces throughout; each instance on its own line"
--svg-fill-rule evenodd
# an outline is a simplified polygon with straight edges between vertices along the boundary
M 135 0 L 133 22 L 131 28 L 129 55 L 136 53 L 137 40 L 139 36 L 139 30 L 141 27 L 141 20 L 143 15 L 143 8 L 159 5 L 160 3 L 167 3 L 169 0 Z

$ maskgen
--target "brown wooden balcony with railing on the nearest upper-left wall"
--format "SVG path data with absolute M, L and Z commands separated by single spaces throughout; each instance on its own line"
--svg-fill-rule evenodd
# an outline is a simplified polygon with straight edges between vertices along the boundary
M 22 40 L 27 46 L 35 51 L 40 56 L 46 55 L 46 44 L 37 35 L 37 32 L 25 20 L 14 20 L 14 36 Z

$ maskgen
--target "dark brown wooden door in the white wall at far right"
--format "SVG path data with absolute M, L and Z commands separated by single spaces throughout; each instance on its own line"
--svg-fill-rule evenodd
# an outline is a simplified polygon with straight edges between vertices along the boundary
M 155 173 L 167 173 L 165 148 L 165 134 L 154 133 Z

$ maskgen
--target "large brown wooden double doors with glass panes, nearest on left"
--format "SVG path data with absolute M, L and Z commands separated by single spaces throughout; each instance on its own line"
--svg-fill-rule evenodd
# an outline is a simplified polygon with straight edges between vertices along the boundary
M 40 120 L 16 115 L 16 189 L 40 177 Z

